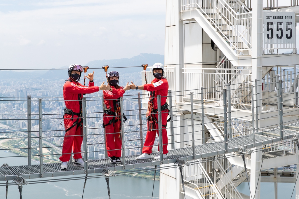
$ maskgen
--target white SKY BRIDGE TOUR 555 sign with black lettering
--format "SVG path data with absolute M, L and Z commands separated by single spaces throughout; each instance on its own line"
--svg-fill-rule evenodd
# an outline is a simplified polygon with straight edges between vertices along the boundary
M 263 12 L 264 44 L 295 43 L 295 13 Z

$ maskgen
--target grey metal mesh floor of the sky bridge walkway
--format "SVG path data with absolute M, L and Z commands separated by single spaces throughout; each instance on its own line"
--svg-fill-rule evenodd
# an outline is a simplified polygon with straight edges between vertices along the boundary
M 291 125 L 288 125 L 289 127 L 297 126 L 299 127 L 299 122 L 294 123 Z M 289 130 L 287 128 L 284 129 L 284 136 L 285 138 L 287 136 L 292 136 L 293 134 L 297 134 L 299 131 Z M 265 135 L 269 135 L 269 133 L 272 135 L 271 137 L 267 137 Z M 267 130 L 263 133 L 263 135 L 255 134 L 255 143 L 265 142 L 269 141 L 269 143 L 272 142 L 274 137 L 280 136 L 280 128 L 275 128 L 271 130 Z M 240 137 L 234 137 L 231 139 L 228 139 L 228 149 L 234 149 L 239 147 L 245 147 L 250 148 L 252 147 L 253 143 L 253 137 L 252 134 L 250 135 L 244 135 Z M 221 142 L 214 142 L 214 143 L 206 143 L 202 145 L 195 146 L 195 154 L 205 154 L 205 157 L 213 156 L 215 154 L 223 154 L 224 153 L 224 141 Z M 289 151 L 285 151 L 283 154 L 283 151 L 270 151 L 265 154 L 264 158 L 273 158 L 273 157 L 279 157 L 283 155 L 289 155 L 292 154 Z M 144 166 L 152 166 L 153 162 L 155 162 L 155 165 L 159 164 L 159 160 L 154 160 L 153 157 L 158 155 L 158 152 L 154 152 L 151 154 L 151 159 L 145 159 L 145 160 L 136 160 L 136 157 L 139 155 L 132 155 L 132 156 L 126 156 L 126 166 L 131 165 L 131 168 L 138 168 L 138 167 L 144 167 Z M 192 147 L 182 148 L 182 149 L 173 149 L 170 150 L 167 154 L 167 158 L 164 158 L 164 160 L 172 160 L 170 162 L 175 162 L 176 159 L 184 158 L 184 157 L 190 157 L 192 156 Z M 120 158 L 122 161 L 122 158 Z M 189 160 L 189 159 L 188 159 Z M 164 162 L 165 163 L 165 162 Z M 68 162 L 67 170 L 60 169 L 60 163 L 50 163 L 50 164 L 43 164 L 43 173 L 52 173 L 57 172 L 57 176 L 62 176 L 68 173 L 64 173 L 65 171 L 76 171 L 76 170 L 83 170 L 83 167 L 74 166 L 72 162 Z M 112 168 L 115 167 L 114 170 L 121 170 L 121 166 L 123 163 L 118 164 L 112 164 L 110 163 L 109 159 L 101 159 L 101 160 L 88 160 L 88 169 L 105 169 L 105 168 Z M 39 174 L 40 168 L 39 165 L 24 165 L 24 166 L 12 166 L 11 169 L 9 167 L 0 167 L 0 176 L 10 176 L 10 175 L 16 175 L 12 170 L 16 171 L 17 173 L 21 175 L 25 174 Z M 190 185 L 191 186 L 191 185 Z

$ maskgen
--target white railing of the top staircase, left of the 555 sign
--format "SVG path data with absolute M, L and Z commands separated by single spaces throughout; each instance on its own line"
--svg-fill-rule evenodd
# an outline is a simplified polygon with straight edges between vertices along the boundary
M 245 5 L 239 7 L 239 13 L 224 0 L 181 0 L 181 5 L 182 10 L 201 10 L 238 55 L 251 50 L 252 12 Z

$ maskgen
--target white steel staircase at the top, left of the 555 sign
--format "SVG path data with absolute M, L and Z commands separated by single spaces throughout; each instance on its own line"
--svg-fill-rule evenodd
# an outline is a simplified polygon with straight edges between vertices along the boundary
M 193 17 L 230 60 L 251 54 L 252 12 L 242 1 L 185 0 L 182 10 L 182 20 Z

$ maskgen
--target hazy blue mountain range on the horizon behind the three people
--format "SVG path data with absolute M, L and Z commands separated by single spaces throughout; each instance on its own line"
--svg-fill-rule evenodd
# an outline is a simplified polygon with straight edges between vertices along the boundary
M 102 68 L 103 65 L 108 65 L 109 71 L 118 71 L 121 74 L 127 74 L 132 72 L 142 71 L 142 64 L 153 65 L 156 62 L 164 63 L 164 55 L 160 54 L 149 54 L 141 53 L 140 55 L 134 56 L 132 58 L 122 58 L 122 59 L 109 59 L 109 60 L 95 60 L 88 62 L 85 66 L 89 66 L 88 73 L 94 71 L 95 78 L 105 79 L 105 72 Z M 140 66 L 136 68 L 129 68 L 130 66 Z M 128 68 L 117 68 L 117 67 L 128 67 Z M 63 66 L 61 68 L 67 69 L 68 66 Z M 47 72 L 41 71 L 1 71 L 0 79 L 66 79 L 68 77 L 66 70 L 48 70 Z M 83 80 L 84 73 L 81 76 Z

